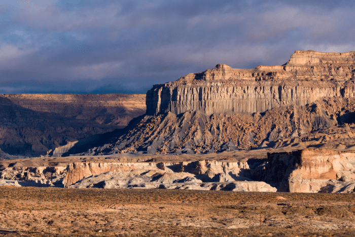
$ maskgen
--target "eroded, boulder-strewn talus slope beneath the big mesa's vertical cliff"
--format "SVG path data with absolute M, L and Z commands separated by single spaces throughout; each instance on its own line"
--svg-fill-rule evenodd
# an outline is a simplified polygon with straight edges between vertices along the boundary
M 69 150 L 63 149 L 62 155 L 204 154 L 265 147 L 352 149 L 354 114 L 355 98 L 342 97 L 323 98 L 303 107 L 283 106 L 253 115 L 169 112 L 132 120 L 126 129 L 80 141 Z

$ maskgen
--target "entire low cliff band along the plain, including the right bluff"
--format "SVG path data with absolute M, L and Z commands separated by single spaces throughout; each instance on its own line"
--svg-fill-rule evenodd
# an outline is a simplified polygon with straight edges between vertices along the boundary
M 226 158 L 3 160 L 0 186 L 355 192 L 355 151 L 308 148 L 269 152 L 267 159 Z

